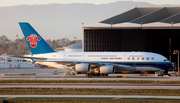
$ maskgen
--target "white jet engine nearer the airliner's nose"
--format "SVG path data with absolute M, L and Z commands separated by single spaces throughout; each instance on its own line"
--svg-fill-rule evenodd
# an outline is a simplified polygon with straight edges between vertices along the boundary
M 111 74 L 115 72 L 114 66 L 107 65 L 107 66 L 101 66 L 100 67 L 100 73 L 101 74 Z

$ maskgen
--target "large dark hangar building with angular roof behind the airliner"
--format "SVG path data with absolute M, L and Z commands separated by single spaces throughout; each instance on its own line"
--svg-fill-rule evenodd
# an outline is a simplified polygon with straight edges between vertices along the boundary
M 147 51 L 177 61 L 180 7 L 136 7 L 82 28 L 84 52 Z

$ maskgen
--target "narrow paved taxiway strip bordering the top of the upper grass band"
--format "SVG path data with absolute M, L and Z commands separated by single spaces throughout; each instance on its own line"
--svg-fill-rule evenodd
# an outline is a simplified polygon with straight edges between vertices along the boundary
M 180 81 L 180 77 L 86 77 L 86 76 L 0 76 L 0 80 L 151 80 L 151 81 Z

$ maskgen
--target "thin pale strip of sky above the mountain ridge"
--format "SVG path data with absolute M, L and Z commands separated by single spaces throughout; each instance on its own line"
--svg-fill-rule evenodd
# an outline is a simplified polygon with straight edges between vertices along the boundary
M 6 6 L 15 6 L 15 5 L 34 5 L 34 4 L 51 4 L 51 3 L 59 3 L 59 4 L 70 4 L 70 3 L 93 3 L 96 5 L 99 4 L 108 4 L 116 1 L 135 1 L 135 2 L 147 2 L 156 5 L 162 4 L 171 4 L 171 5 L 179 5 L 180 0 L 0 0 L 0 7 Z

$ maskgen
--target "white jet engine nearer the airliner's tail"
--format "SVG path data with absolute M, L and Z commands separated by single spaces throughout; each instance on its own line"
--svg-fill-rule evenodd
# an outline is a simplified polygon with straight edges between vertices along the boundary
M 91 69 L 90 64 L 82 63 L 75 65 L 75 71 L 77 72 L 88 72 L 90 71 L 90 69 Z

